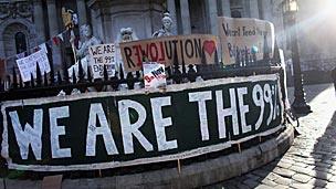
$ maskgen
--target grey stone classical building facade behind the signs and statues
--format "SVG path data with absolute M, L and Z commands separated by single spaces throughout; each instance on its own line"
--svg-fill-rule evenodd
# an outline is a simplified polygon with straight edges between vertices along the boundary
M 128 27 L 134 29 L 139 39 L 150 38 L 161 27 L 165 10 L 170 12 L 175 22 L 175 34 L 217 34 L 218 15 L 269 20 L 274 23 L 276 40 L 286 52 L 290 48 L 284 29 L 288 29 L 288 25 L 282 3 L 283 0 L 0 0 L 0 57 L 29 51 L 64 31 L 61 14 L 63 7 L 77 12 L 80 25 L 91 23 L 93 34 L 106 43 L 116 41 L 120 28 Z M 312 13 L 309 11 L 314 11 L 313 3 L 313 0 L 300 1 L 302 8 L 298 19 L 305 20 Z M 335 55 L 332 42 L 322 48 L 315 43 L 313 45 L 312 38 L 317 36 L 309 31 L 313 32 L 306 30 L 298 35 L 303 69 L 333 66 Z M 69 61 L 70 43 L 66 38 L 64 41 L 59 46 L 52 46 L 54 64 Z M 326 67 L 316 66 L 312 63 L 316 57 L 321 59 L 318 63 L 323 60 L 332 63 Z

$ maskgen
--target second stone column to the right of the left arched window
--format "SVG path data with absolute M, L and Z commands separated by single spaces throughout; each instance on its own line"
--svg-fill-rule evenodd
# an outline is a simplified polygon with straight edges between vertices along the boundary
M 56 12 L 56 3 L 55 0 L 46 0 L 48 7 L 48 20 L 49 20 L 49 33 L 52 40 L 53 36 L 59 34 L 59 25 L 57 25 L 57 12 Z M 60 46 L 52 46 L 52 56 L 54 66 L 61 65 L 61 50 Z

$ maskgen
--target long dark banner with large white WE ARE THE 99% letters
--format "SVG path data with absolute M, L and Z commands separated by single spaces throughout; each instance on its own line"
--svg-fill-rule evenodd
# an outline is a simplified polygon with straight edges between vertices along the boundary
M 279 76 L 4 102 L 2 150 L 10 169 L 105 169 L 221 150 L 282 127 Z

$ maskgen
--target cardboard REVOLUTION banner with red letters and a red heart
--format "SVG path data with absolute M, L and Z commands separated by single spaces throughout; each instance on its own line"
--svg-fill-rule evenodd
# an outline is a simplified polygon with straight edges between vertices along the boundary
M 120 43 L 124 67 L 128 72 L 141 70 L 143 57 L 149 61 L 172 65 L 213 64 L 218 40 L 210 34 L 165 36 Z

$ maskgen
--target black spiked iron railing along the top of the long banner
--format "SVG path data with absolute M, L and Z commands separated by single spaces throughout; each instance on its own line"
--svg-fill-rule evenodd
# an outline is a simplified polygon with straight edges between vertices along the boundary
M 264 42 L 264 44 L 266 44 Z M 273 57 L 270 57 L 269 48 L 265 45 L 263 50 L 263 59 L 256 60 L 255 53 L 237 52 L 235 63 L 231 65 L 223 65 L 218 60 L 216 51 L 214 64 L 204 64 L 206 57 L 202 55 L 200 64 L 183 65 L 178 63 L 177 54 L 174 56 L 174 65 L 166 67 L 167 81 L 170 83 L 180 84 L 187 82 L 196 82 L 197 77 L 202 80 L 212 80 L 221 77 L 233 76 L 249 76 L 258 74 L 279 73 L 280 54 L 275 43 Z M 108 77 L 107 69 L 104 67 L 104 77 L 94 80 L 90 72 L 90 66 L 85 74 L 82 64 L 78 64 L 78 72 L 75 74 L 75 70 L 72 70 L 72 77 L 69 76 L 69 65 L 63 63 L 62 70 L 54 71 L 53 63 L 50 64 L 51 72 L 44 73 L 42 76 L 39 64 L 36 64 L 36 77 L 31 74 L 30 82 L 22 82 L 21 75 L 17 73 L 17 70 L 12 70 L 12 75 L 7 80 L 0 80 L 0 102 L 12 99 L 25 99 L 46 96 L 56 96 L 60 91 L 65 92 L 66 95 L 71 94 L 74 88 L 81 91 L 81 93 L 87 92 L 88 87 L 94 87 L 95 91 L 104 91 L 105 86 L 109 86 L 109 91 L 118 91 L 122 84 L 127 85 L 128 90 L 135 88 L 135 83 L 140 83 L 144 86 L 144 80 L 140 71 L 135 73 L 129 72 L 124 75 L 124 71 L 120 69 L 114 76 Z M 122 67 L 122 66 L 120 66 Z

